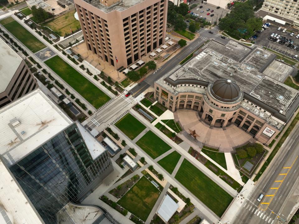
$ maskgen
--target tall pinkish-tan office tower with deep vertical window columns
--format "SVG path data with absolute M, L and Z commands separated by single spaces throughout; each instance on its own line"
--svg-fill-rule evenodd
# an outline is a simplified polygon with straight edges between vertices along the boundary
M 164 44 L 168 0 L 74 0 L 89 50 L 116 68 Z

